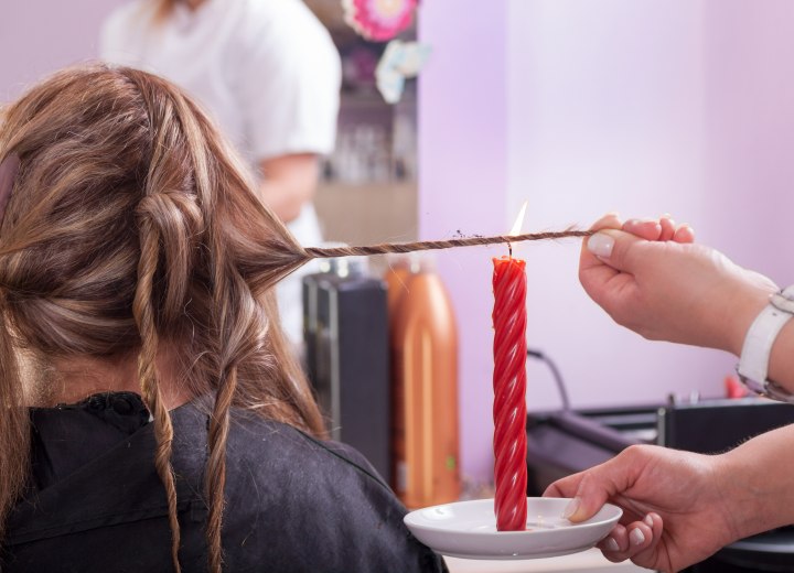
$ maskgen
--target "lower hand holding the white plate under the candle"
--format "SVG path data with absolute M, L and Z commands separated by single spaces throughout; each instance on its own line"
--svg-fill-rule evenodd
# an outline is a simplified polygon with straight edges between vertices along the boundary
M 604 558 L 675 572 L 741 537 L 721 464 L 719 456 L 631 446 L 551 484 L 544 496 L 573 498 L 566 516 L 575 522 L 589 519 L 607 501 L 621 507 L 620 522 L 598 545 Z

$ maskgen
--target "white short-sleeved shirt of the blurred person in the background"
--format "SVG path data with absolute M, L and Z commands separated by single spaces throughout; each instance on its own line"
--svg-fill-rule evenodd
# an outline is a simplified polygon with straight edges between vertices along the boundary
M 340 57 L 301 0 L 205 0 L 178 4 L 152 24 L 155 2 L 135 0 L 103 25 L 100 56 L 170 79 L 204 106 L 248 160 L 329 153 L 336 136 Z M 289 224 L 305 246 L 321 242 L 312 205 Z M 302 339 L 301 275 L 278 285 L 285 331 Z

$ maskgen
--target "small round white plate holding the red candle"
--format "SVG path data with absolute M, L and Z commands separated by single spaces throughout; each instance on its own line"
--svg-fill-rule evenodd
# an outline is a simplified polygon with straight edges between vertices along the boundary
M 458 501 L 411 511 L 405 523 L 437 553 L 463 559 L 538 559 L 590 549 L 612 530 L 623 510 L 607 504 L 592 518 L 562 518 L 570 499 L 527 498 L 527 530 L 496 531 L 493 499 Z

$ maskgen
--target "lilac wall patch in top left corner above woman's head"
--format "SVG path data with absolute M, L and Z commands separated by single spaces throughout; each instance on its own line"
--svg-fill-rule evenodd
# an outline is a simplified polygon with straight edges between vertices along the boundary
M 97 55 L 103 19 L 121 0 L 9 0 L 0 18 L 0 102 L 66 65 Z

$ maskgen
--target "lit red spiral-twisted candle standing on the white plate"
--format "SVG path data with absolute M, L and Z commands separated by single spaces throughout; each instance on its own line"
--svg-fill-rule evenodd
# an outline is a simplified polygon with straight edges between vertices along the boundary
M 494 259 L 494 511 L 498 531 L 526 529 L 526 262 Z

